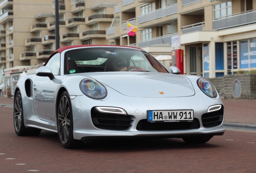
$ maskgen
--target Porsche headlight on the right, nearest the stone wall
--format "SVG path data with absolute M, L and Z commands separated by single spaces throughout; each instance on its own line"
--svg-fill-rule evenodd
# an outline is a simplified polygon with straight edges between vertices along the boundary
M 212 98 L 217 97 L 217 91 L 209 80 L 205 78 L 198 78 L 196 83 L 204 94 Z

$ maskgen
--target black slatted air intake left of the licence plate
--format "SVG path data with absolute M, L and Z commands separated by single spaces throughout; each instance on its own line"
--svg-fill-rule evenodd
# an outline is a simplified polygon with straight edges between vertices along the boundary
M 129 115 L 101 113 L 95 108 L 91 110 L 91 119 L 95 127 L 106 130 L 125 130 L 133 121 Z

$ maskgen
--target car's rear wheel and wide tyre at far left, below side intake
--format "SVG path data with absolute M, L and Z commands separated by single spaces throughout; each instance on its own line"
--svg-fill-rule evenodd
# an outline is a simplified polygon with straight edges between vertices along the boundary
M 13 122 L 15 133 L 18 136 L 39 135 L 41 133 L 40 129 L 26 128 L 24 125 L 23 104 L 21 98 L 21 91 L 17 91 L 14 97 L 13 106 Z

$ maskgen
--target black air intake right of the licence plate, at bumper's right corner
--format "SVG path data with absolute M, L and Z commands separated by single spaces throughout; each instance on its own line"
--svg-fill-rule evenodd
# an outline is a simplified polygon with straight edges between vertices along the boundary
M 203 114 L 202 115 L 203 127 L 214 127 L 214 126 L 220 125 L 223 121 L 223 115 L 224 115 L 223 106 L 219 111 Z

